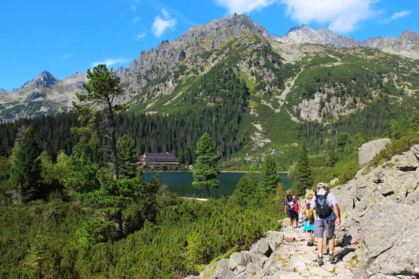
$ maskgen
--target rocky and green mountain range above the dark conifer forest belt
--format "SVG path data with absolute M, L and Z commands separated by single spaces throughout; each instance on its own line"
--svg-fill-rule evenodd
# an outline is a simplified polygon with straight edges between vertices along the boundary
M 235 118 L 238 126 L 228 126 L 235 133 L 230 145 L 235 139 L 247 144 L 225 151 L 228 164 L 257 161 L 269 152 L 286 169 L 301 140 L 313 137 L 321 144 L 322 137 L 346 130 L 382 135 L 385 121 L 413 110 L 419 61 L 388 52 L 413 53 L 416 37 L 405 31 L 397 39 L 360 43 L 303 25 L 279 38 L 250 17 L 231 15 L 193 27 L 173 42 L 165 40 L 140 52 L 128 68 L 115 70 L 126 90 L 119 102 L 130 103 L 131 112 L 161 116 L 214 109 L 216 119 L 226 96 L 237 93 L 235 86 L 220 87 L 216 81 L 227 71 L 229 78 L 223 82 L 241 80 L 247 89 L 241 84 L 237 88 L 249 91 Z M 68 110 L 74 92 L 82 91 L 86 81 L 85 73 L 57 80 L 44 72 L 0 96 L 1 116 L 14 119 Z M 351 126 L 354 119 L 356 125 Z

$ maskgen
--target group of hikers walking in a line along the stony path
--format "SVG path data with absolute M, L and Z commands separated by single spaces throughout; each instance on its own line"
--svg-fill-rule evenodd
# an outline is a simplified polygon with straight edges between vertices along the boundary
M 317 239 L 317 262 L 323 265 L 324 250 L 328 253 L 328 262 L 335 262 L 335 226 L 340 225 L 340 211 L 335 195 L 330 193 L 325 183 L 317 184 L 317 193 L 307 191 L 306 199 L 301 206 L 295 195 L 288 194 L 285 201 L 285 212 L 291 229 L 298 226 L 299 213 L 304 220 L 304 232 L 307 232 L 307 245 L 314 246 Z M 295 225 L 294 225 L 295 223 Z M 323 240 L 324 239 L 324 240 Z

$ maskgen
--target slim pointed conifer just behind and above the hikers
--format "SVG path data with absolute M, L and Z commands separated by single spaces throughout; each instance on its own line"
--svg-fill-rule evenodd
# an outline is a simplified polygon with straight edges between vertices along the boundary
M 305 194 L 305 189 L 313 188 L 314 176 L 310 166 L 307 146 L 302 144 L 300 155 L 297 159 L 295 182 L 292 188 L 293 194 L 301 197 Z

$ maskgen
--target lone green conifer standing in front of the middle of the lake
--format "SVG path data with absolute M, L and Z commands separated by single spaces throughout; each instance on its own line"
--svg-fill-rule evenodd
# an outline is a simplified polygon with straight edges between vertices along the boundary
M 214 140 L 205 133 L 196 144 L 196 163 L 193 166 L 193 182 L 195 188 L 207 189 L 207 197 L 211 197 L 210 189 L 219 188 L 219 153 L 216 152 Z

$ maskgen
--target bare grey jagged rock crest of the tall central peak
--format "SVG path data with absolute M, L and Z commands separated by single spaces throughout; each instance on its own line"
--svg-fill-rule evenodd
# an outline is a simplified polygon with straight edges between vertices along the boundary
M 156 48 L 140 52 L 138 58 L 121 73 L 122 86 L 126 89 L 126 100 L 131 100 L 134 94 L 140 93 L 147 83 L 163 77 L 166 73 L 175 73 L 181 66 L 202 68 L 200 74 L 205 73 L 208 70 L 207 61 L 200 59 L 199 54 L 218 49 L 224 43 L 249 33 L 269 37 L 266 29 L 254 24 L 250 17 L 230 15 L 220 20 L 213 20 L 207 25 L 199 24 L 172 43 L 164 40 Z M 165 86 L 160 86 L 159 91 L 163 94 L 170 93 L 176 84 L 177 80 L 170 80 Z

